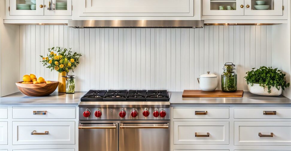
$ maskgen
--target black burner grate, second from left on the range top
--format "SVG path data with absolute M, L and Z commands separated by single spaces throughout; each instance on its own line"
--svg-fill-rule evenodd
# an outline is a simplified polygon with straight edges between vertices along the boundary
M 127 90 L 108 90 L 104 95 L 104 101 L 126 100 Z

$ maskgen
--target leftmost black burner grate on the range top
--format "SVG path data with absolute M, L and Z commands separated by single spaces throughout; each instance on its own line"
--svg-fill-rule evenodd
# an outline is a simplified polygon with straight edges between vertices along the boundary
M 107 90 L 89 90 L 81 101 L 102 101 Z

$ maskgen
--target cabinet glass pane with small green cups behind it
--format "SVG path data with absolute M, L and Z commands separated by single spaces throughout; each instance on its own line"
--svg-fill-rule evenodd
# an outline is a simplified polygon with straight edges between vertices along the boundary
M 236 0 L 210 0 L 210 10 L 236 10 Z

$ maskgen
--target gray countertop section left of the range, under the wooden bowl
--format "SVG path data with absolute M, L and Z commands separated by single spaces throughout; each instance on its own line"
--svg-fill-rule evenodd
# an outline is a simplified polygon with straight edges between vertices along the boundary
M 75 92 L 75 94 L 53 92 L 48 96 L 29 97 L 22 94 L 21 92 L 16 92 L 4 97 L 0 97 L 0 104 L 79 104 L 80 98 L 84 94 L 86 94 L 86 92 Z

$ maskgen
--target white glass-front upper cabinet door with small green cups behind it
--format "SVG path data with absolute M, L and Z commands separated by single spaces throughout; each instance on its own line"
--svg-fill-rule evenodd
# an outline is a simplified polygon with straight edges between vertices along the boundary
M 203 16 L 244 15 L 244 0 L 203 0 Z

